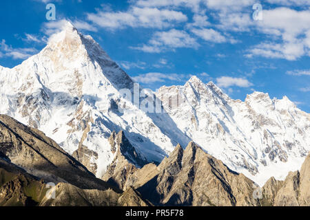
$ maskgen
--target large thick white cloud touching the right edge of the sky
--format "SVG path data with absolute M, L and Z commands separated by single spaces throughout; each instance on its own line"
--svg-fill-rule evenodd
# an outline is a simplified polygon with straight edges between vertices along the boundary
M 263 11 L 263 20 L 258 23 L 262 33 L 278 38 L 280 43 L 265 42 L 256 45 L 247 56 L 285 58 L 294 61 L 309 56 L 310 50 L 310 11 L 297 11 L 289 8 L 276 8 Z

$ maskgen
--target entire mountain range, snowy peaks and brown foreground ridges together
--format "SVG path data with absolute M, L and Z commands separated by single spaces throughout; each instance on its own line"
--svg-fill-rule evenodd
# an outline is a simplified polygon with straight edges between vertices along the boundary
M 23 204 L 309 205 L 310 114 L 287 97 L 233 100 L 196 76 L 143 89 L 71 23 L 0 76 L 0 183 L 64 189 Z

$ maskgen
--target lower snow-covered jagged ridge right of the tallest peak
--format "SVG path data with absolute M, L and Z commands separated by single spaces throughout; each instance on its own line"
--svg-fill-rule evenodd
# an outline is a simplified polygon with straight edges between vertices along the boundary
M 196 76 L 184 86 L 161 87 L 156 96 L 178 129 L 261 186 L 298 170 L 310 150 L 310 114 L 287 97 L 254 92 L 245 102 L 233 100 Z

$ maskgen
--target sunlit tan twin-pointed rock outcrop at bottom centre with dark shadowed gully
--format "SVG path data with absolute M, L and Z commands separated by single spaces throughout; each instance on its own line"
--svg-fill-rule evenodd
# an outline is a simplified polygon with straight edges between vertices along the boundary
M 258 206 L 253 186 L 194 142 L 176 146 L 158 166 L 136 170 L 125 184 L 157 206 Z

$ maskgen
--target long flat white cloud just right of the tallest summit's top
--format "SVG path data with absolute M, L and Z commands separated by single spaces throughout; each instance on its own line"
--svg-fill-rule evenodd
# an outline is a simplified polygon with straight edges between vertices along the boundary
M 87 14 L 87 19 L 101 28 L 168 28 L 187 21 L 187 16 L 174 10 L 131 7 L 127 12 L 100 11 Z

